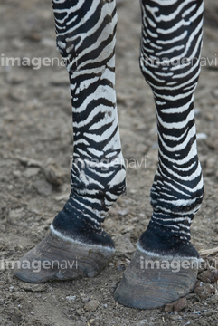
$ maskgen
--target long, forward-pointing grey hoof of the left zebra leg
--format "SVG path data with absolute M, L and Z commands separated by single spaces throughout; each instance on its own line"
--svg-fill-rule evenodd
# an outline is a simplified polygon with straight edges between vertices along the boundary
M 15 275 L 30 283 L 92 277 L 100 273 L 114 252 L 112 247 L 63 240 L 49 231 L 38 245 L 20 259 Z

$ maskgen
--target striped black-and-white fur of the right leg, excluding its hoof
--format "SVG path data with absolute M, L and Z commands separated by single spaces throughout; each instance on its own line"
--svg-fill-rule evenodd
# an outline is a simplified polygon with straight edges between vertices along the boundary
M 193 93 L 204 7 L 201 0 L 142 0 L 141 8 L 140 67 L 156 101 L 159 151 L 150 193 L 154 213 L 140 245 L 157 250 L 147 240 L 153 233 L 153 242 L 164 237 L 167 248 L 190 242 L 190 225 L 203 199 Z

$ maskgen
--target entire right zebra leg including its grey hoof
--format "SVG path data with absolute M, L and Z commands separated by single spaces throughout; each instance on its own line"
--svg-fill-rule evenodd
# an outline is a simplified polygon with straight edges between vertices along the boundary
M 194 288 L 198 253 L 190 225 L 204 188 L 197 157 L 194 89 L 200 72 L 203 0 L 142 0 L 140 67 L 156 102 L 158 168 L 153 215 L 115 292 L 118 302 L 156 308 Z

